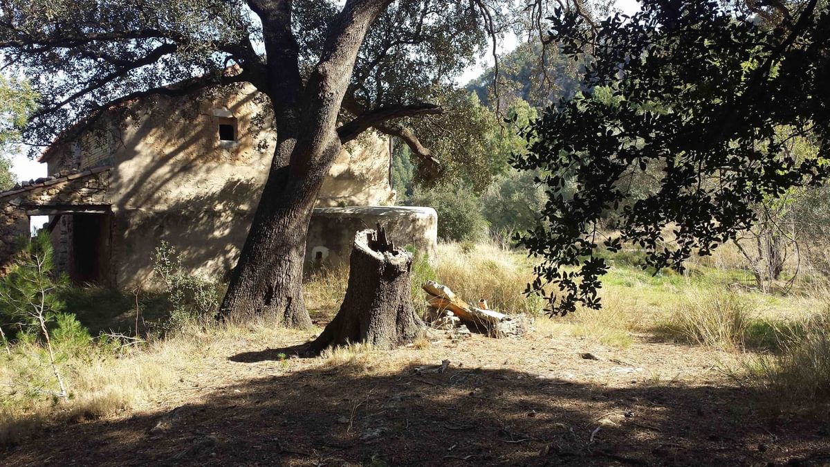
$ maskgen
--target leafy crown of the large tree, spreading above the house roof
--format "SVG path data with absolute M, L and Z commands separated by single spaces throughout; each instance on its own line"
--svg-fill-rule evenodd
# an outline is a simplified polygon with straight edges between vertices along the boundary
M 361 3 L 369 0 L 347 5 Z M 513 2 L 387 3 L 359 49 L 344 118 L 435 113 L 424 103 L 446 94 L 488 37 L 517 21 Z M 343 12 L 342 2 L 318 0 L 8 0 L 0 64 L 29 76 L 40 93 L 26 136 L 48 145 L 74 121 L 142 96 L 241 81 L 272 101 L 286 89 L 299 94 Z M 378 121 L 369 117 L 354 128 Z

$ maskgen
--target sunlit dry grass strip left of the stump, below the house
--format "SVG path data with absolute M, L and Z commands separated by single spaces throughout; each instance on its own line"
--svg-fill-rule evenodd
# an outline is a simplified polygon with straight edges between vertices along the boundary
M 89 343 L 61 356 L 59 366 L 70 398 L 59 403 L 32 384 L 48 378 L 36 342 L 0 349 L 0 445 L 16 444 L 44 424 L 156 406 L 168 388 L 205 371 L 213 359 L 227 358 L 228 349 L 246 347 L 247 342 L 261 346 L 277 333 L 284 337 L 290 332 L 263 321 L 187 327 L 138 346 Z

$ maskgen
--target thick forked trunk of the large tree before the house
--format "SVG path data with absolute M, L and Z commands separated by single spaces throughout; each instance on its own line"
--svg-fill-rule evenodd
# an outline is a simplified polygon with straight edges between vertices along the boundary
M 220 317 L 269 314 L 288 327 L 311 325 L 302 295 L 305 234 L 323 179 L 342 148 L 338 116 L 360 45 L 391 2 L 345 2 L 305 85 L 291 28 L 291 2 L 248 2 L 262 19 L 267 54 L 266 63 L 257 65 L 265 66 L 265 80 L 255 84 L 262 85 L 274 107 L 278 141 Z

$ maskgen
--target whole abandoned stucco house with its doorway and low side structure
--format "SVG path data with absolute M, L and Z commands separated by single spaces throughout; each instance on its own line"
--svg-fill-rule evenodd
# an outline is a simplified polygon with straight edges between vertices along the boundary
M 194 273 L 221 278 L 237 261 L 275 134 L 253 86 L 153 97 L 74 125 L 40 161 L 49 177 L 0 193 L 0 271 L 29 217 L 47 215 L 56 268 L 75 283 L 149 286 L 162 240 Z M 387 207 L 388 140 L 364 135 L 341 151 L 309 228 L 307 263 L 348 257 L 354 233 L 378 221 L 398 244 L 434 255 L 430 208 Z

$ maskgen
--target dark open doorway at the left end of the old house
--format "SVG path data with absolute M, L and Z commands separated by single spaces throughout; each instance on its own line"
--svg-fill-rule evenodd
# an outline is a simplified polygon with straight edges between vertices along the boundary
M 110 273 L 110 216 L 72 214 L 71 267 L 77 284 L 107 285 Z

